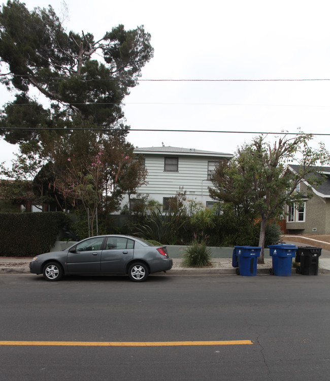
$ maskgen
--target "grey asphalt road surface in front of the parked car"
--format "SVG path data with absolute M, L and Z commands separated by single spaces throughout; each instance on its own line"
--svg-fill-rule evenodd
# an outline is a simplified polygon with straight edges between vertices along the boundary
M 0 379 L 328 380 L 329 286 L 330 275 L 2 274 Z

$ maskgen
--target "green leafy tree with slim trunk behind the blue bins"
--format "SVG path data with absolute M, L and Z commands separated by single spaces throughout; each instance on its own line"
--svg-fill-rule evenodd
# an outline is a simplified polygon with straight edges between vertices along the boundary
M 317 164 L 329 163 L 330 156 L 324 144 L 320 143 L 319 149 L 314 150 L 308 146 L 311 139 L 310 134 L 294 138 L 285 135 L 272 146 L 265 137 L 259 136 L 251 144 L 239 148 L 225 168 L 216 169 L 213 183 L 217 191 L 209 188 L 211 197 L 223 203 L 236 203 L 238 210 L 250 218 L 257 213 L 261 219 L 259 246 L 262 248 L 267 221 L 282 214 L 285 204 L 299 205 L 303 195 L 296 192 L 297 185 L 306 175 L 317 172 Z M 287 164 L 293 160 L 300 165 L 295 173 L 287 170 Z M 309 177 L 310 184 L 319 182 L 320 177 Z M 230 195 L 226 194 L 228 190 Z M 260 262 L 263 263 L 263 249 Z

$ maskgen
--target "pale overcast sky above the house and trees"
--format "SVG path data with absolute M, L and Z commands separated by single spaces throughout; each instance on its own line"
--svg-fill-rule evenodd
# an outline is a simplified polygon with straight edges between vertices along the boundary
M 29 10 L 48 1 L 26 0 Z M 57 15 L 62 2 L 51 2 Z M 113 26 L 144 25 L 154 57 L 142 80 L 330 79 L 326 0 L 67 1 L 67 30 L 103 37 Z M 130 132 L 138 147 L 177 146 L 234 153 L 259 132 L 330 134 L 330 81 L 144 82 L 124 100 L 131 129 L 241 133 Z M 2 87 L 0 104 L 10 94 Z M 247 134 L 254 132 L 254 134 Z M 274 135 L 269 141 L 274 141 Z M 330 137 L 314 137 L 330 150 Z M 15 147 L 0 141 L 0 162 Z

